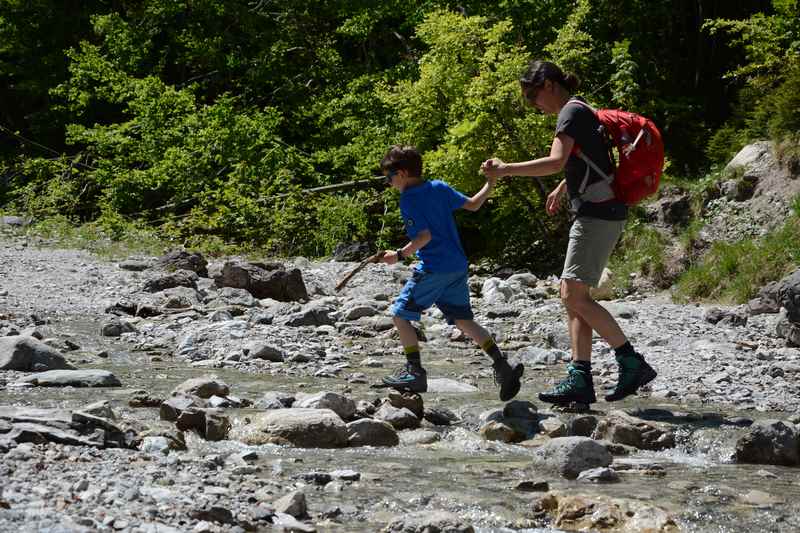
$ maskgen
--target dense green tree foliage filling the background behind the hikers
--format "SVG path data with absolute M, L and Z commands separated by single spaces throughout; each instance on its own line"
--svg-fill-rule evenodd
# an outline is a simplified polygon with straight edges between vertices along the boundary
M 797 137 L 796 0 L 0 1 L 0 206 L 185 244 L 325 255 L 397 244 L 397 197 L 306 196 L 368 177 L 388 145 L 470 193 L 480 162 L 547 153 L 520 100 L 534 57 L 597 105 L 651 116 L 673 168 Z M 504 182 L 460 216 L 474 256 L 546 270 L 559 179 Z

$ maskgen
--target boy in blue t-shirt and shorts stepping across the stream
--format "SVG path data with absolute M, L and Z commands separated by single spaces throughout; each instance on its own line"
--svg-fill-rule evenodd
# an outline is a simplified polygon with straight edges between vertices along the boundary
M 406 365 L 397 374 L 383 378 L 384 385 L 412 392 L 428 390 L 427 372 L 422 367 L 417 334 L 410 321 L 418 321 L 422 311 L 436 304 L 449 324 L 455 324 L 491 357 L 500 399 L 510 400 L 519 392 L 524 367 L 520 363 L 509 365 L 494 339 L 472 319 L 467 258 L 453 220 L 456 209 L 480 209 L 497 180 L 487 179 L 472 198 L 443 181 L 425 181 L 422 156 L 413 146 L 392 146 L 381 160 L 381 170 L 387 183 L 400 191 L 400 213 L 411 239 L 402 248 L 387 250 L 383 261 L 393 265 L 414 254 L 420 259 L 391 308 Z

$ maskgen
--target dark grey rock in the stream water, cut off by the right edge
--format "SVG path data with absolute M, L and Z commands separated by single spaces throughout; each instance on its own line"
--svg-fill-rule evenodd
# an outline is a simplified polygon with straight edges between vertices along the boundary
M 800 432 L 780 420 L 760 420 L 736 442 L 736 462 L 800 465 Z

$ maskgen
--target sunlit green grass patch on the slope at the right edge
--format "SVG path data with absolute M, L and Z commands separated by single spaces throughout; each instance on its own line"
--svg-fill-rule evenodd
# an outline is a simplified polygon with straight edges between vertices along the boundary
M 797 200 L 795 200 L 797 203 Z M 798 208 L 795 207 L 795 211 Z M 738 304 L 800 264 L 800 218 L 757 239 L 717 242 L 678 280 L 678 301 L 713 300 Z

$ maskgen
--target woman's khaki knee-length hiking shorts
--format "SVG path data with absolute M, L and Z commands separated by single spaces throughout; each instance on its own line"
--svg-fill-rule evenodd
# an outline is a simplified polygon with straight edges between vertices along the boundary
M 574 279 L 597 287 L 623 229 L 624 220 L 575 219 L 569 230 L 569 246 L 561 279 Z

